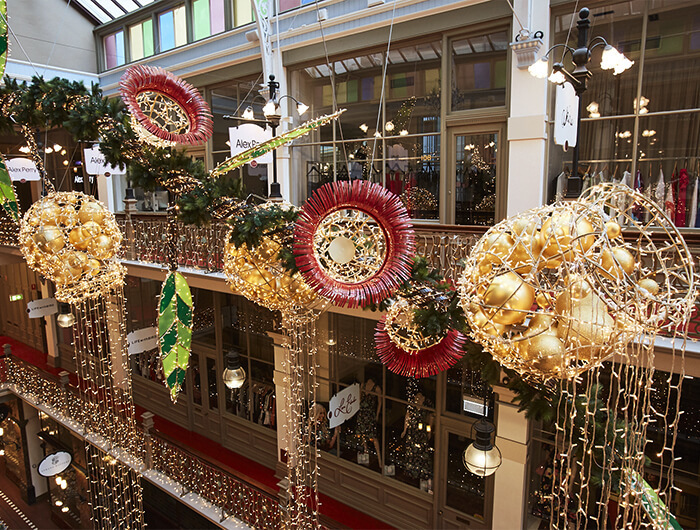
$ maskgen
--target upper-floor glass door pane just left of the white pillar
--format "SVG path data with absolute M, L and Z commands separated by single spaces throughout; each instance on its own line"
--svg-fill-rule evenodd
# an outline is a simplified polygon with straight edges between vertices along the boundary
M 450 136 L 453 177 L 448 184 L 454 199 L 450 201 L 448 222 L 492 226 L 505 210 L 501 128 L 455 128 Z

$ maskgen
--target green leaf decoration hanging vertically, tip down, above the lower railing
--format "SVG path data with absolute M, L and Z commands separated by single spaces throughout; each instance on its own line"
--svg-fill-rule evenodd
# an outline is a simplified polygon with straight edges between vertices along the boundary
M 185 277 L 170 271 L 160 291 L 158 347 L 173 403 L 185 381 L 192 345 L 192 293 Z

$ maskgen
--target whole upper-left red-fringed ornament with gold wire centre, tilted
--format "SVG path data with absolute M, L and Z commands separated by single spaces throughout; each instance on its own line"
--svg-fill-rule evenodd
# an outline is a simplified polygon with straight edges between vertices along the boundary
M 119 81 L 131 125 L 139 139 L 155 147 L 199 145 L 212 135 L 209 105 L 199 91 L 156 66 L 128 68 Z

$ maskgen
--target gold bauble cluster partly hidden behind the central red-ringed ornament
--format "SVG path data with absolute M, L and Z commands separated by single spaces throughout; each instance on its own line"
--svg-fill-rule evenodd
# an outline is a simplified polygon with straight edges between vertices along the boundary
M 234 291 L 272 311 L 300 314 L 325 307 L 299 273 L 291 274 L 282 266 L 277 257 L 282 249 L 279 236 L 263 236 L 253 249 L 245 244 L 236 247 L 230 239 L 229 235 L 224 249 L 224 274 Z

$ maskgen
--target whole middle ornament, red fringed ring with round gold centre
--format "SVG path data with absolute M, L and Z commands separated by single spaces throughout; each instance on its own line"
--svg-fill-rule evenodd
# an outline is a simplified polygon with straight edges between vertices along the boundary
M 401 200 L 368 181 L 319 188 L 294 230 L 294 256 L 304 279 L 343 307 L 364 307 L 391 295 L 409 277 L 414 252 Z

